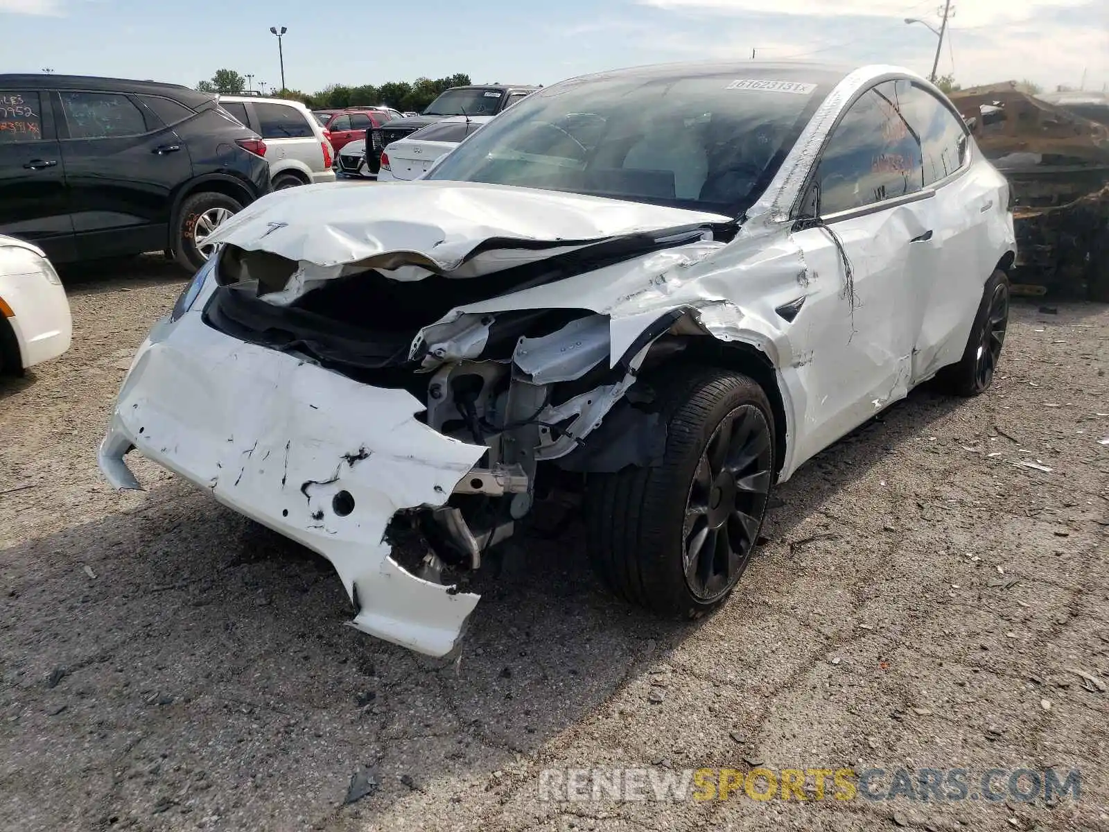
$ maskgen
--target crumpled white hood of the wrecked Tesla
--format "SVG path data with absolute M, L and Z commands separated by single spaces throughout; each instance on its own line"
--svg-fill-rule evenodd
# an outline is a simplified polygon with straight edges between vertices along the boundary
M 471 182 L 336 182 L 267 194 L 212 236 L 301 264 L 474 276 L 607 240 L 731 224 L 731 217 L 600 196 Z M 427 270 L 423 272 L 423 270 Z M 401 274 L 390 275 L 404 280 Z

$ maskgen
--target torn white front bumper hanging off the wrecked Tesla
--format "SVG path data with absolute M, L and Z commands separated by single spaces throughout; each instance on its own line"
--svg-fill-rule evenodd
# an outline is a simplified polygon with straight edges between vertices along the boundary
M 231 338 L 190 312 L 140 348 L 98 453 L 116 488 L 141 488 L 143 456 L 327 558 L 358 629 L 449 652 L 479 596 L 421 580 L 383 539 L 400 509 L 446 503 L 485 451 L 417 422 L 403 389 L 358 384 Z

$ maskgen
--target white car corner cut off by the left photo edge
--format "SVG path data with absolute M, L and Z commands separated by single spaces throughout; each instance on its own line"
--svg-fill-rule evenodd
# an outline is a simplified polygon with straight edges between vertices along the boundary
M 0 369 L 57 358 L 73 335 L 65 290 L 38 246 L 0 234 Z

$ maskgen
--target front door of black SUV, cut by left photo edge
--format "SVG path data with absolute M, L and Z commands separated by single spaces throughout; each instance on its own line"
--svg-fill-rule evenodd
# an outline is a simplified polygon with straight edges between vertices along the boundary
M 73 260 L 61 146 L 50 93 L 0 89 L 0 234 Z

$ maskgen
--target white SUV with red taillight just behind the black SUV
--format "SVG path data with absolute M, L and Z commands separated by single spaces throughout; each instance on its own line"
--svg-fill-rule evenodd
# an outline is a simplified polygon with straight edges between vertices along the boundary
M 221 95 L 220 106 L 266 143 L 266 161 L 275 191 L 335 181 L 332 143 L 312 111 L 299 101 Z

